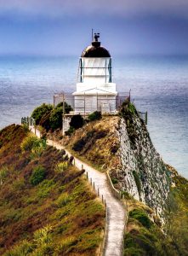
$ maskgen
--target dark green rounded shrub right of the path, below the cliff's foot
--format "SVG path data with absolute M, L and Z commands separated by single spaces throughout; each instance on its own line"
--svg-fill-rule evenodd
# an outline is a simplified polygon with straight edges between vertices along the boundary
M 145 228 L 150 229 L 152 222 L 151 219 L 147 216 L 147 214 L 140 209 L 134 209 L 129 212 L 129 217 L 130 218 L 135 218 L 137 219 Z

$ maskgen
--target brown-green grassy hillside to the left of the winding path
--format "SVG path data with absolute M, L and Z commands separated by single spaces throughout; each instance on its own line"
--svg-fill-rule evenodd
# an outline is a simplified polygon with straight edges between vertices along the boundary
M 104 207 L 63 150 L 22 152 L 27 136 L 20 125 L 0 131 L 0 254 L 96 255 Z M 58 162 L 66 170 L 55 171 Z M 33 183 L 38 169 L 44 176 Z

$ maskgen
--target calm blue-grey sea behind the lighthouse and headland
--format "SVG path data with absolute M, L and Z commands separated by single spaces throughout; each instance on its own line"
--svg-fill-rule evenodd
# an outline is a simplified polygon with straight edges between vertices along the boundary
M 57 92 L 77 83 L 77 56 L 0 57 L 0 129 L 20 123 Z M 188 57 L 124 56 L 112 59 L 118 91 L 131 90 L 162 159 L 188 177 Z

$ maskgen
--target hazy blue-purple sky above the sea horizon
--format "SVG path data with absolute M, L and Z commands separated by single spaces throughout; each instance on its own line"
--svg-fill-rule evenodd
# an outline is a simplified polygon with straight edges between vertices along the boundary
M 0 55 L 187 55 L 187 0 L 0 0 Z

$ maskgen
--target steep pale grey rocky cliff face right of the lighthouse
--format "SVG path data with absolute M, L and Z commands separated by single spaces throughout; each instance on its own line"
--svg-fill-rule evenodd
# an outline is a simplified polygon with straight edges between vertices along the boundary
M 162 217 L 170 189 L 170 172 L 153 147 L 145 124 L 136 110 L 132 114 L 122 113 L 117 137 L 122 163 L 117 179 L 122 190 L 145 202 Z

